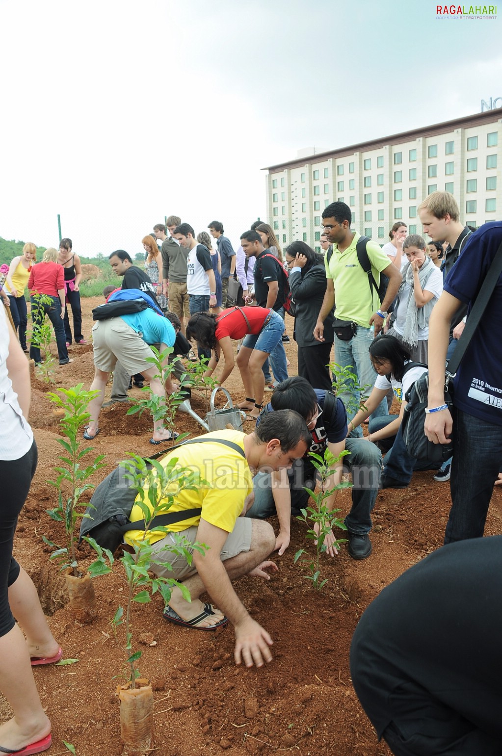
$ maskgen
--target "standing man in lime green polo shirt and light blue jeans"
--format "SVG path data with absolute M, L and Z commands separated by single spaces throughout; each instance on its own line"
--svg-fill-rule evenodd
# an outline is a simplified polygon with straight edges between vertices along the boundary
M 335 318 L 338 321 L 347 322 L 347 328 L 344 329 L 346 333 L 343 335 L 349 337 L 347 340 L 343 340 L 335 334 L 336 363 L 341 367 L 351 365 L 354 373 L 358 376 L 360 386 L 368 386 L 364 395 L 360 396 L 359 392 L 352 390 L 351 393 L 343 395 L 341 398 L 344 404 L 348 406 L 351 396 L 353 396 L 357 401 L 357 406 L 359 406 L 359 402 L 364 401 L 375 382 L 375 371 L 371 365 L 368 352 L 370 326 L 374 326 L 374 335 L 377 336 L 377 333 L 383 327 L 387 310 L 398 292 L 401 273 L 395 265 L 392 265 L 392 262 L 389 263 L 389 258 L 376 242 L 371 240 L 367 242 L 367 256 L 370 259 L 371 272 L 377 286 L 380 286 L 380 273 L 386 274 L 389 278 L 386 296 L 380 304 L 377 291 L 374 287 L 373 292 L 370 289 L 368 275 L 358 261 L 356 244 L 361 234 L 353 233 L 350 230 L 352 212 L 349 206 L 343 202 L 333 202 L 324 210 L 322 218 L 324 233 L 330 243 L 333 244 L 333 255 L 329 262 L 327 258 L 324 259 L 327 288 L 315 325 L 314 336 L 318 341 L 324 341 L 323 322 L 333 309 L 336 292 Z M 349 411 L 348 414 L 351 419 L 356 411 L 355 409 Z M 377 407 L 377 410 L 373 412 L 372 417 L 380 417 L 384 414 L 387 414 L 385 399 L 380 407 Z M 351 423 L 349 423 L 349 429 L 353 430 Z M 354 431 L 354 435 L 361 435 L 361 433 L 360 427 Z

